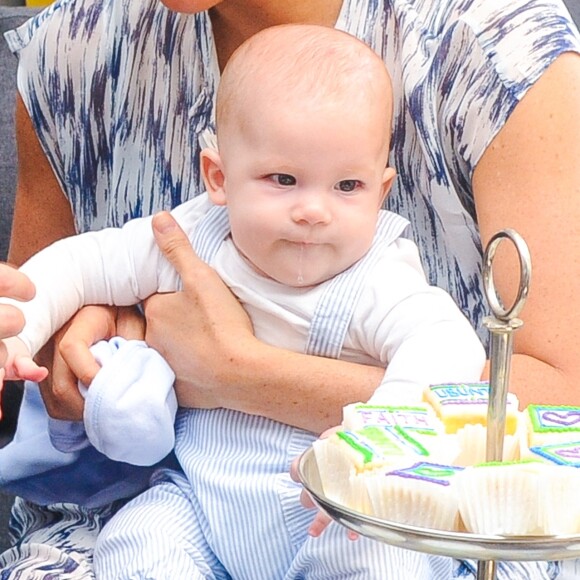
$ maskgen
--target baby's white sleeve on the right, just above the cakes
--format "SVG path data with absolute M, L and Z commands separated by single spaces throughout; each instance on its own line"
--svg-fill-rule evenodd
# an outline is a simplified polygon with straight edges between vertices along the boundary
M 429 384 L 480 380 L 483 345 L 451 296 L 428 284 L 414 244 L 399 240 L 376 271 L 359 330 L 386 366 L 371 401 L 413 400 Z

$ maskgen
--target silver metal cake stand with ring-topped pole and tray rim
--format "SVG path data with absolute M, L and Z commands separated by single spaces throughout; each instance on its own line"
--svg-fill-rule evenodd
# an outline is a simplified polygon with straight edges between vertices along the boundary
M 509 309 L 504 308 L 495 290 L 492 273 L 496 249 L 504 239 L 515 245 L 520 263 L 518 294 Z M 530 254 L 522 237 L 511 229 L 498 232 L 490 240 L 483 259 L 484 290 L 492 313 L 484 320 L 491 333 L 487 461 L 502 460 L 513 333 L 523 324 L 518 316 L 528 295 L 530 278 Z M 482 536 L 398 524 L 353 511 L 324 495 L 312 448 L 300 458 L 298 474 L 318 507 L 348 529 L 399 548 L 460 560 L 477 560 L 477 580 L 494 580 L 498 561 L 580 558 L 580 535 Z

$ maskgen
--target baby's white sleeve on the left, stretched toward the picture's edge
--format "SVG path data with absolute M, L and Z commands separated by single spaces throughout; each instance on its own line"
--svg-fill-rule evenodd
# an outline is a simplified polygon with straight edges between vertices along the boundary
M 190 239 L 205 209 L 201 200 L 193 200 L 175 210 Z M 34 282 L 36 296 L 30 302 L 1 302 L 23 312 L 26 324 L 19 337 L 33 355 L 85 305 L 128 306 L 179 288 L 177 273 L 155 243 L 150 217 L 59 240 L 21 271 Z

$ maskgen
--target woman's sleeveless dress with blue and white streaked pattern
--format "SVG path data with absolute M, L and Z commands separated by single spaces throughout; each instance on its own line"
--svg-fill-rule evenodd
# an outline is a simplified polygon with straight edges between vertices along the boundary
M 473 170 L 551 62 L 580 51 L 578 32 L 560 0 L 344 0 L 337 27 L 370 44 L 393 77 L 398 179 L 389 209 L 411 222 L 430 281 L 481 328 Z M 202 190 L 198 136 L 212 126 L 219 80 L 206 13 L 172 13 L 158 0 L 57 0 L 7 38 L 79 231 L 174 207 Z M 72 575 L 59 577 L 89 577 L 75 562 L 90 559 L 91 540 L 71 562 L 66 553 L 83 543 L 80 534 L 51 533 L 54 524 L 32 509 L 18 520 L 28 543 L 10 554 L 21 562 L 12 570 L 34 559 L 34 541 L 63 548 L 55 560 Z M 80 527 L 98 529 L 99 514 L 80 511 Z M 26 536 L 36 528 L 44 535 Z M 10 577 L 6 561 L 0 578 Z M 521 577 L 555 577 L 557 568 L 522 569 Z

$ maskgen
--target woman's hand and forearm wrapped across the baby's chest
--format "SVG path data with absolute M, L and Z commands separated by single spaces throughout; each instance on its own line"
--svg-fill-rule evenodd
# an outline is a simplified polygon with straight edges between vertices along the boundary
M 374 392 L 382 368 L 258 340 L 244 309 L 173 217 L 158 214 L 153 228 L 183 290 L 146 301 L 146 340 L 174 370 L 182 406 L 224 407 L 320 433 L 340 422 L 344 405 Z

